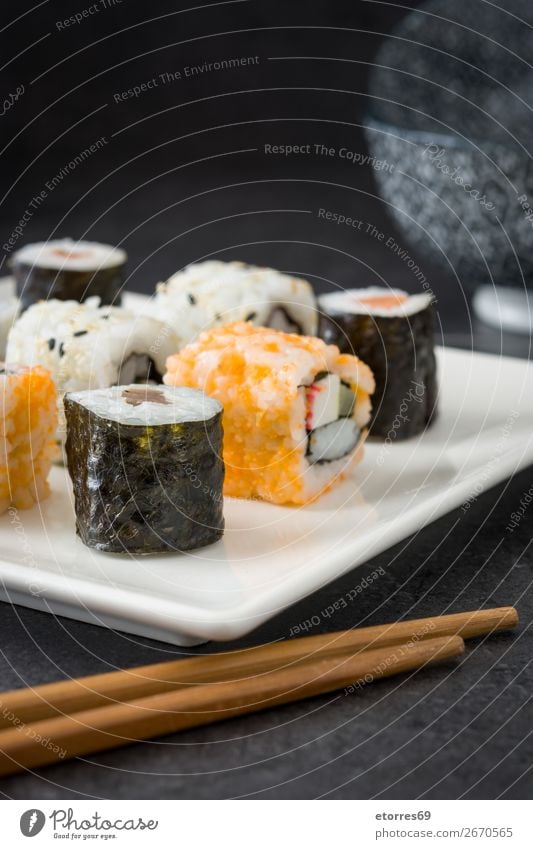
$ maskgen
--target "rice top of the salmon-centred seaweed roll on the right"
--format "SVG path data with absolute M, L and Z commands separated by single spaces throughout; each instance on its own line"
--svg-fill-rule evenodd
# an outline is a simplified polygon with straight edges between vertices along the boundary
M 365 303 L 365 298 L 388 297 L 389 295 L 407 295 L 407 299 L 392 307 L 375 307 Z M 433 301 L 429 293 L 408 295 L 402 289 L 369 286 L 366 289 L 346 289 L 328 292 L 318 298 L 318 307 L 329 315 L 374 315 L 380 318 L 406 317 L 425 310 Z

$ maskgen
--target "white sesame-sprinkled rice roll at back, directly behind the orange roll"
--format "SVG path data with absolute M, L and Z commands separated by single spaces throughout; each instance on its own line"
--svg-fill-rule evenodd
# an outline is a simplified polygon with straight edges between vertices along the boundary
M 181 345 L 202 330 L 251 321 L 287 333 L 314 336 L 316 301 L 307 280 L 243 262 L 200 262 L 159 283 L 149 310 L 168 321 Z

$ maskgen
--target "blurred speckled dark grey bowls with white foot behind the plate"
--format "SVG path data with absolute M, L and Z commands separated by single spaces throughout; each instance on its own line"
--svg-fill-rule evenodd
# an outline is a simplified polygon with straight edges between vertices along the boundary
M 533 287 L 533 7 L 433 0 L 384 42 L 367 139 L 395 163 L 376 178 L 405 239 L 461 285 L 484 320 L 530 331 Z M 519 309 L 516 310 L 518 303 Z

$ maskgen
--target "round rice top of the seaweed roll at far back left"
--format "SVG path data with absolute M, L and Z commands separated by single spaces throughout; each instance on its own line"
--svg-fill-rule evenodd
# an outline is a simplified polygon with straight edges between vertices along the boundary
M 65 271 L 96 271 L 124 265 L 127 256 L 121 248 L 100 242 L 76 242 L 73 239 L 52 239 L 25 245 L 13 254 L 13 262 Z

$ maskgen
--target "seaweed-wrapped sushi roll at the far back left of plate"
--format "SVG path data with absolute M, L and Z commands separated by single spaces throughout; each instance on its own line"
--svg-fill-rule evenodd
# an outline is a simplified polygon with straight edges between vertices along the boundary
M 81 302 L 93 295 L 118 306 L 125 265 L 121 248 L 72 239 L 25 245 L 11 260 L 22 309 L 48 298 Z

